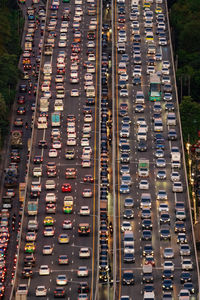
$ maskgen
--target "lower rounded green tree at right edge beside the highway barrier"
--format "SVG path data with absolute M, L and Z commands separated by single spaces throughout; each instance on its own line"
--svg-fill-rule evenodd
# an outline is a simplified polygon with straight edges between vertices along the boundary
M 186 143 L 188 138 L 193 144 L 198 138 L 200 130 L 200 105 L 191 97 L 183 97 L 180 104 L 181 124 L 183 140 Z

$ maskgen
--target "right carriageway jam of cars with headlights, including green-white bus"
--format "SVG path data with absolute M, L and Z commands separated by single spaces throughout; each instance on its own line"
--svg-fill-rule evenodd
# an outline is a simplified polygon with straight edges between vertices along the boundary
M 116 9 L 121 299 L 190 299 L 198 286 L 165 1 Z

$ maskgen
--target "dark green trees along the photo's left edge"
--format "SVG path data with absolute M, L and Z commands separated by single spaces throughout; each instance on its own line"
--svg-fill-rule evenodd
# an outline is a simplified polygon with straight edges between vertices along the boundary
M 8 131 L 9 113 L 20 75 L 20 28 L 23 19 L 15 0 L 0 1 L 0 148 Z

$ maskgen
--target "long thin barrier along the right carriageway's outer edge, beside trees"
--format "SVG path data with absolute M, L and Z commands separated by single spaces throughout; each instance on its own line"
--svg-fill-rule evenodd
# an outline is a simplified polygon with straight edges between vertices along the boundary
M 185 179 L 186 179 L 186 186 L 187 186 L 187 200 L 188 200 L 188 206 L 189 206 L 190 223 L 191 223 L 191 227 L 192 227 L 192 238 L 193 238 L 195 260 L 196 260 L 196 266 L 197 266 L 197 277 L 198 277 L 197 278 L 197 280 L 198 280 L 197 283 L 199 283 L 200 282 L 199 264 L 198 264 L 198 256 L 197 256 L 197 249 L 196 249 L 196 244 L 195 244 L 195 235 L 194 235 L 194 228 L 193 228 L 193 221 L 192 221 L 192 212 L 191 212 L 192 210 L 191 210 L 190 194 L 189 194 L 189 186 L 188 186 L 188 178 L 187 178 L 187 170 L 186 170 L 185 149 L 184 149 L 181 118 L 180 118 L 180 111 L 179 111 L 178 91 L 177 91 L 177 83 L 176 83 L 176 72 L 175 72 L 175 65 L 174 65 L 174 52 L 173 52 L 173 48 L 172 48 L 172 38 L 171 38 L 171 30 L 170 30 L 167 0 L 165 0 L 165 8 L 166 8 L 167 25 L 168 25 L 168 31 L 169 31 L 169 44 L 170 44 L 170 52 L 171 52 L 171 60 L 172 60 L 172 69 L 173 69 L 173 75 L 174 75 L 174 87 L 175 87 L 175 93 L 176 93 L 177 115 L 178 115 L 178 121 L 179 121 L 179 126 L 180 126 L 181 145 L 182 145 L 182 151 L 183 151 L 183 165 L 184 165 L 184 172 L 185 172 Z M 198 294 L 197 297 L 200 300 L 200 293 Z

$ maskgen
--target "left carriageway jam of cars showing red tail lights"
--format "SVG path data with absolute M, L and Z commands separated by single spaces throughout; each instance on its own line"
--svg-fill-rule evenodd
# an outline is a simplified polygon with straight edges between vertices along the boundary
M 94 256 L 96 4 L 52 0 L 47 14 L 39 1 L 27 0 L 29 4 L 22 55 L 28 84 L 19 87 L 20 117 L 28 110 L 26 97 L 37 98 L 31 104 L 35 116 L 17 120 L 25 130 L 32 127 L 33 143 L 32 151 L 30 141 L 28 145 L 30 184 L 15 279 L 19 292 L 26 286 L 31 298 L 76 294 L 77 299 L 89 299 Z M 32 76 L 39 79 L 38 87 Z M 21 183 L 21 214 L 23 192 Z M 7 209 L 2 218 L 6 214 Z

